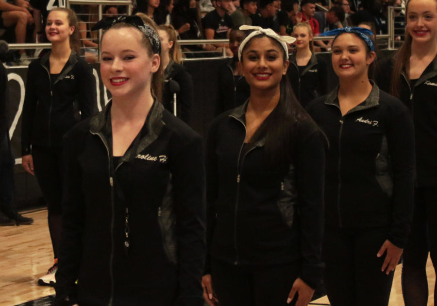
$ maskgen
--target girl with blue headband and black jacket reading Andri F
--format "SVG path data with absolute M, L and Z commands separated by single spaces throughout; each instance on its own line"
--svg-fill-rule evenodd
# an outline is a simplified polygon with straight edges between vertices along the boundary
M 332 306 L 387 306 L 413 203 L 414 136 L 398 99 L 369 80 L 375 58 L 363 28 L 336 35 L 339 86 L 307 107 L 330 143 L 326 159 L 325 285 Z

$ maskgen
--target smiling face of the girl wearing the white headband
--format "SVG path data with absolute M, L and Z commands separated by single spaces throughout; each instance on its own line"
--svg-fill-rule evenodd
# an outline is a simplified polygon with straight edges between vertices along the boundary
M 284 49 L 269 37 L 252 38 L 243 50 L 240 68 L 251 88 L 272 89 L 286 74 L 288 60 Z

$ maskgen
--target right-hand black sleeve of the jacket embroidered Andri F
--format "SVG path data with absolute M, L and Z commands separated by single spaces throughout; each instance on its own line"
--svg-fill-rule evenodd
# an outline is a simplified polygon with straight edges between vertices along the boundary
M 393 171 L 392 220 L 388 240 L 403 248 L 410 230 L 414 203 L 414 128 L 408 109 L 391 115 L 387 125 L 388 153 Z

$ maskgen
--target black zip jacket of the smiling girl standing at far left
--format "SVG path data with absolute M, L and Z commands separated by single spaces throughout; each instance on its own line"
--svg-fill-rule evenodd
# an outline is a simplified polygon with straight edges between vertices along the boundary
M 95 115 L 96 81 L 92 68 L 74 51 L 51 85 L 50 52 L 27 70 L 21 126 L 21 154 L 31 145 L 61 146 L 62 137 L 81 119 Z M 80 112 L 80 113 L 79 113 Z

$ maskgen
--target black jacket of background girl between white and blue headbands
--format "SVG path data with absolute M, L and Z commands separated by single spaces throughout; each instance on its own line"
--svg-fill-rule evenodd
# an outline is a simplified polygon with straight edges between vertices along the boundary
M 290 57 L 287 75 L 294 94 L 303 107 L 315 98 L 328 93 L 326 62 L 314 52 L 302 74 L 299 73 L 296 55 Z

